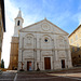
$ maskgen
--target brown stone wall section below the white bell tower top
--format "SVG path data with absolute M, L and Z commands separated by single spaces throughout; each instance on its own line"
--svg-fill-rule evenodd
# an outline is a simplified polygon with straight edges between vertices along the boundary
M 18 65 L 18 37 L 12 37 L 9 69 L 17 69 Z

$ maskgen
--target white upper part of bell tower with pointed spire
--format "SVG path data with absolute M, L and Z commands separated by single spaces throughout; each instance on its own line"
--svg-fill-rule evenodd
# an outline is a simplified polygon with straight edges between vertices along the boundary
M 15 26 L 14 26 L 14 37 L 18 37 L 19 29 L 23 28 L 24 19 L 22 17 L 22 11 L 18 11 L 17 17 L 15 18 Z

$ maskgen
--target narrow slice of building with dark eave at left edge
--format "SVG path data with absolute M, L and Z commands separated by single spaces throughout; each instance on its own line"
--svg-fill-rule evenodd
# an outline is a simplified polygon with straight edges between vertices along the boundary
M 4 0 L 0 0 L 0 64 L 1 64 L 2 40 L 4 31 L 5 31 Z

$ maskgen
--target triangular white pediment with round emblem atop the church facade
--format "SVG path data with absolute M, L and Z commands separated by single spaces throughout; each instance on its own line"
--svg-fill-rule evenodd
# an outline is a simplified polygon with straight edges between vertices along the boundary
M 48 19 L 40 21 L 19 30 L 21 32 L 33 31 L 33 32 L 55 32 L 68 35 L 66 31 L 54 25 Z

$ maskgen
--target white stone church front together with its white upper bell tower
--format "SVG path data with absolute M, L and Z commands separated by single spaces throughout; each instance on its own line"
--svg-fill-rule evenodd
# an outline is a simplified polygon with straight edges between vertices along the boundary
M 44 18 L 25 28 L 21 12 L 15 22 L 14 37 L 18 38 L 18 70 L 54 70 L 70 68 L 68 33 Z M 18 35 L 19 30 L 19 35 Z

